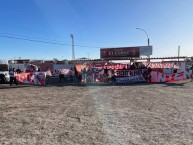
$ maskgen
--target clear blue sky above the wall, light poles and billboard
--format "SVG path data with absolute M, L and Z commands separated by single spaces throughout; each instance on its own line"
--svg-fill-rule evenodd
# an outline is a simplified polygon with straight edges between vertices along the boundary
M 100 58 L 100 48 L 153 46 L 193 56 L 193 0 L 0 0 L 0 59 Z

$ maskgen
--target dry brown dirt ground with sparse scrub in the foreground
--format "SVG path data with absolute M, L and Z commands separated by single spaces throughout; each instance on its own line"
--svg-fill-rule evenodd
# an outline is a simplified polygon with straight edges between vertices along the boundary
M 0 84 L 0 144 L 192 145 L 193 82 Z

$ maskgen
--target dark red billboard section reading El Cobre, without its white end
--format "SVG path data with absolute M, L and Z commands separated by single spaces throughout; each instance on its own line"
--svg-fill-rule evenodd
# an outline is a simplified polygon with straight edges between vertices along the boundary
M 101 48 L 101 59 L 139 57 L 139 47 Z

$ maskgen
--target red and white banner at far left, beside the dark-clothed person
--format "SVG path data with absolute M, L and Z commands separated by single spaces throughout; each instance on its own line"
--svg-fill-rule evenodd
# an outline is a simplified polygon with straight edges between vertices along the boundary
M 17 81 L 24 84 L 45 85 L 46 73 L 20 73 L 16 75 Z

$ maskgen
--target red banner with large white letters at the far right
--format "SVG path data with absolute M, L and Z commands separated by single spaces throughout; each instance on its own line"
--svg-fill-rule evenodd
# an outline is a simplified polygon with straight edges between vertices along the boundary
M 170 82 L 189 79 L 192 76 L 192 70 L 175 73 L 175 74 L 164 74 L 156 71 L 151 72 L 151 82 Z

